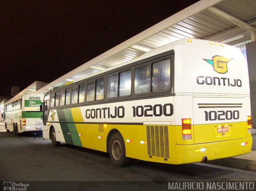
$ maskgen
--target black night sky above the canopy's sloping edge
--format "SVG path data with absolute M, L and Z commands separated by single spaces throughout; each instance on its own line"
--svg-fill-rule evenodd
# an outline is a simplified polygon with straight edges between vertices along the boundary
M 198 0 L 1 0 L 0 95 L 50 83 Z

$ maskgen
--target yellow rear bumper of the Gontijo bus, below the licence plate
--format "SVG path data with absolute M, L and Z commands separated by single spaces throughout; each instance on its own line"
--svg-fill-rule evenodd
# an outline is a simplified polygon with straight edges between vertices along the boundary
M 215 160 L 249 153 L 252 149 L 252 137 L 205 144 L 176 145 L 175 148 L 176 164 L 201 162 L 204 157 Z

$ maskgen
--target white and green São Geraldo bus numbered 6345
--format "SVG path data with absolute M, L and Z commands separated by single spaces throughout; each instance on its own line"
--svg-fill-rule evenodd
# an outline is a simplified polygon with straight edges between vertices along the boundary
M 40 105 L 43 99 L 44 94 L 26 93 L 6 102 L 2 116 L 6 131 L 13 131 L 17 136 L 22 132 L 42 134 Z

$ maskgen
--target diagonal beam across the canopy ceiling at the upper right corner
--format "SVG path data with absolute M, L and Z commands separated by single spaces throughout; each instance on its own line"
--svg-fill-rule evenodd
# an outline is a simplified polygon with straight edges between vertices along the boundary
M 247 31 L 250 31 L 250 32 L 256 32 L 256 28 L 253 27 L 253 26 L 250 26 L 249 24 L 243 22 L 242 20 L 222 11 L 222 10 L 219 10 L 218 8 L 215 8 L 215 7 L 210 7 L 208 8 L 208 10 L 218 16 L 220 16 L 221 18 L 247 30 Z

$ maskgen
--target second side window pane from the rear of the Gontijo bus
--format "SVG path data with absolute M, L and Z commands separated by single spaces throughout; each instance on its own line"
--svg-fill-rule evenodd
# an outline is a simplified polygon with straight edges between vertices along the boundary
M 135 69 L 134 93 L 148 93 L 151 89 L 151 65 L 145 65 Z

